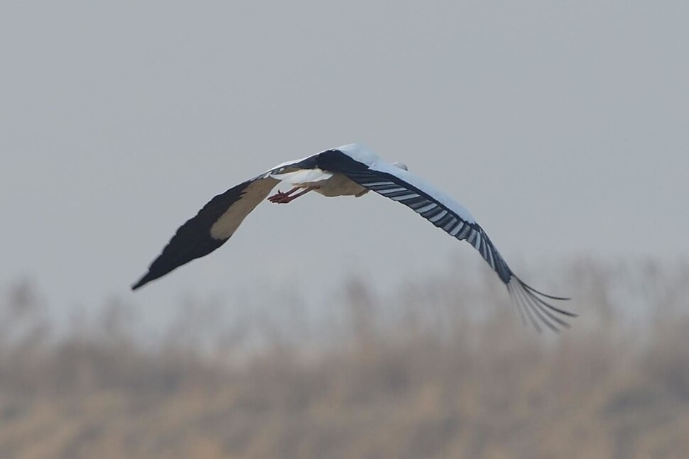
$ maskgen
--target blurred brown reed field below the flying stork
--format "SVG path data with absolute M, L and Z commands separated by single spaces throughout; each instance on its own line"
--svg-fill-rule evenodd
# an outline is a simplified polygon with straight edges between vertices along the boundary
M 298 292 L 222 321 L 226 304 L 187 301 L 153 338 L 126 302 L 57 327 L 50 299 L 16 282 L 0 458 L 688 457 L 687 262 L 525 275 L 575 297 L 557 336 L 467 270 L 391 297 L 352 278 L 319 314 Z

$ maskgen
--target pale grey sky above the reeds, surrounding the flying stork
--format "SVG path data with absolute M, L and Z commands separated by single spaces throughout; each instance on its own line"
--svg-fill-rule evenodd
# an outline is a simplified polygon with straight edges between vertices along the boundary
M 382 197 L 313 194 L 129 292 L 215 194 L 351 142 L 455 197 L 516 272 L 685 256 L 688 23 L 686 1 L 3 2 L 0 287 L 155 321 L 480 259 Z

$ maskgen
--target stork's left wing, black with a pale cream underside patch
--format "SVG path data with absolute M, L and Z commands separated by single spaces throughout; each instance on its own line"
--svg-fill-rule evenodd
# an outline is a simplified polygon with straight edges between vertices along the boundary
M 180 226 L 161 255 L 148 267 L 146 275 L 131 289 L 136 290 L 176 267 L 219 248 L 278 182 L 266 172 L 211 199 L 196 216 Z

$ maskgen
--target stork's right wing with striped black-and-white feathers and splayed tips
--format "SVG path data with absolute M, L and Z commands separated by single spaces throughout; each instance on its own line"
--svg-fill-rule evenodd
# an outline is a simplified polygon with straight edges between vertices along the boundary
M 576 316 L 543 299 L 544 297 L 560 300 L 566 298 L 551 297 L 538 292 L 516 277 L 486 232 L 476 223 L 467 209 L 410 172 L 375 158 L 364 158 L 364 161 L 360 161 L 340 150 L 327 150 L 320 153 L 318 167 L 328 172 L 340 172 L 362 187 L 404 204 L 450 236 L 466 240 L 473 245 L 497 273 L 500 280 L 506 284 L 522 320 L 526 321 L 526 316 L 528 316 L 538 331 L 541 327 L 538 326 L 536 319 L 553 331 L 557 331 L 558 327 L 569 325 L 555 314 Z

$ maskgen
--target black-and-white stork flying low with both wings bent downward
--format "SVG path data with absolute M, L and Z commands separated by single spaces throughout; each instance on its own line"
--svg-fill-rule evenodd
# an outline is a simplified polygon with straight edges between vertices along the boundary
M 279 182 L 287 182 L 293 187 L 268 197 Z M 453 238 L 473 245 L 506 285 L 524 323 L 528 318 L 538 331 L 541 331 L 539 322 L 553 331 L 569 327 L 563 316 L 575 317 L 576 314 L 548 301 L 568 298 L 538 292 L 519 279 L 467 209 L 412 175 L 406 165 L 384 162 L 355 143 L 283 162 L 218 194 L 196 216 L 180 226 L 161 255 L 148 267 L 148 272 L 131 289 L 136 290 L 219 248 L 266 197 L 275 204 L 287 204 L 309 192 L 325 197 L 361 197 L 370 191 L 404 204 Z

